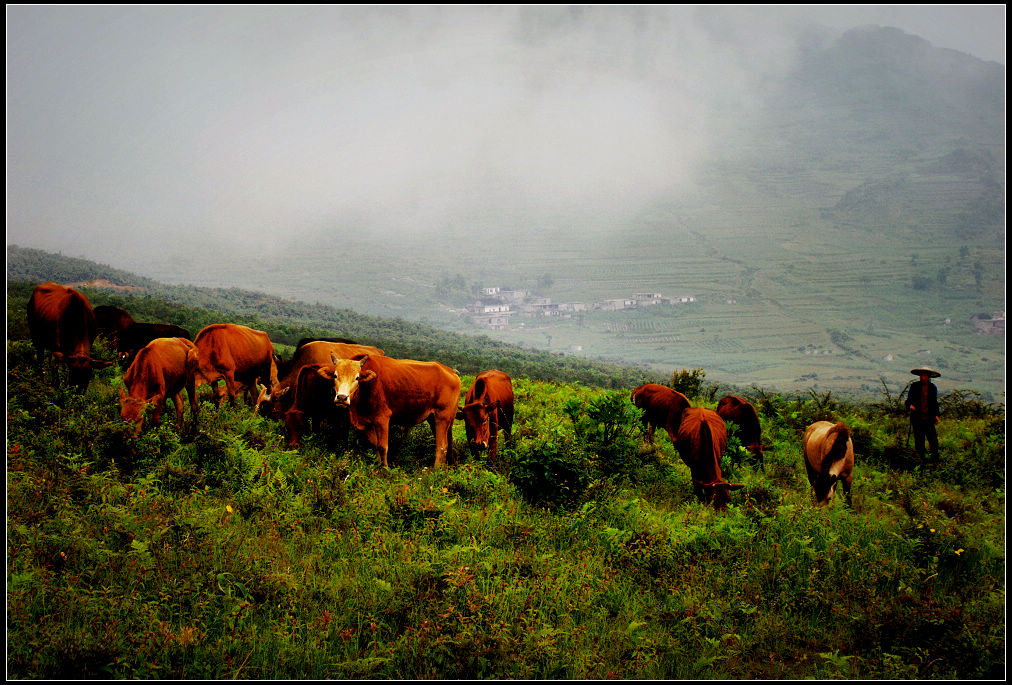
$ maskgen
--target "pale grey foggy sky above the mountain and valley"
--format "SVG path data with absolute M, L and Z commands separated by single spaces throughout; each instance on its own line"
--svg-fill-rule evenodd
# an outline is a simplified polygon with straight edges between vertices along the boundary
M 1004 5 L 8 5 L 7 243 L 129 268 L 620 218 L 798 36 L 866 24 L 1005 64 Z

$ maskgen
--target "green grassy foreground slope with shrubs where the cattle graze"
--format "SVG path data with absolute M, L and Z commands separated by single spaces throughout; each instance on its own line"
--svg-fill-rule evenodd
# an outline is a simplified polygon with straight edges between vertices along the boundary
M 518 374 L 494 462 L 457 423 L 458 464 L 429 468 L 420 426 L 382 470 L 357 441 L 285 449 L 277 422 L 206 398 L 183 430 L 135 438 L 118 369 L 73 394 L 12 337 L 8 678 L 1004 673 L 1004 422 L 973 396 L 947 397 L 925 466 L 893 396 L 757 392 L 773 449 L 732 465 L 732 439 L 746 488 L 719 514 L 666 437 L 643 441 L 628 386 Z M 813 505 L 817 419 L 852 428 L 850 508 Z

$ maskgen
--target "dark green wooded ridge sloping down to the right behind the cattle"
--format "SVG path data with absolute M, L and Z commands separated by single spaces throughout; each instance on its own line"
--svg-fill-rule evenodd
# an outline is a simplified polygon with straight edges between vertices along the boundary
M 16 246 L 8 246 L 7 276 L 8 303 L 12 296 L 27 302 L 31 287 L 46 280 L 81 283 L 78 289 L 92 306 L 122 307 L 137 321 L 174 324 L 194 335 L 203 326 L 229 321 L 266 331 L 275 344 L 294 345 L 304 337 L 343 336 L 381 347 L 391 356 L 438 360 L 461 373 L 496 367 L 511 375 L 601 388 L 657 379 L 655 372 L 645 368 L 530 350 L 487 336 L 461 335 L 403 319 L 372 317 L 239 288 L 166 285 L 89 260 Z M 23 320 L 23 312 L 8 307 L 9 330 L 24 335 L 20 328 Z

